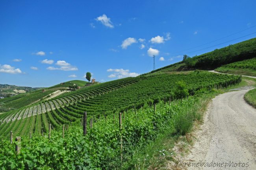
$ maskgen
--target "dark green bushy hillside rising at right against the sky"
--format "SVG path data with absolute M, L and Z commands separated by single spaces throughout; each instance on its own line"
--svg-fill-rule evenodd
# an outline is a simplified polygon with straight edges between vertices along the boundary
M 194 69 L 215 69 L 225 64 L 254 58 L 256 56 L 256 38 L 215 49 L 202 55 L 187 57 L 186 60 L 153 70 L 149 73 L 169 71 L 187 71 Z

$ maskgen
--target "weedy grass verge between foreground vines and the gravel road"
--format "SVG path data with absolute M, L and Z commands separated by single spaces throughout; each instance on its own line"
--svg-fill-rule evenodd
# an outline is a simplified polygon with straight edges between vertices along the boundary
M 204 93 L 202 95 L 202 93 Z M 179 119 L 173 117 L 173 120 L 161 135 L 154 141 L 149 143 L 143 150 L 138 150 L 130 162 L 136 170 L 167 170 L 167 164 L 172 162 L 173 165 L 177 154 L 184 155 L 189 152 L 189 146 L 193 145 L 194 138 L 190 132 L 198 128 L 203 122 L 203 115 L 207 110 L 208 103 L 213 97 L 221 93 L 219 90 L 212 89 L 210 92 L 201 91 L 202 97 L 195 103 L 193 108 L 187 108 Z M 181 135 L 174 130 L 175 126 L 182 126 L 178 128 L 188 129 L 188 133 Z M 174 147 L 178 147 L 178 153 Z M 125 167 L 125 166 L 124 166 Z M 178 170 L 178 167 L 172 166 L 173 169 Z M 124 168 L 126 169 L 126 168 Z

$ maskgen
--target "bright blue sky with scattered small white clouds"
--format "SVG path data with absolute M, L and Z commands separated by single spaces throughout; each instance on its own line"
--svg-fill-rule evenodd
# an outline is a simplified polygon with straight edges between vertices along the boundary
M 101 82 L 137 76 L 152 70 L 153 54 L 160 68 L 184 54 L 256 37 L 249 35 L 256 32 L 255 6 L 254 0 L 1 0 L 0 84 L 52 86 L 85 80 L 87 71 Z

